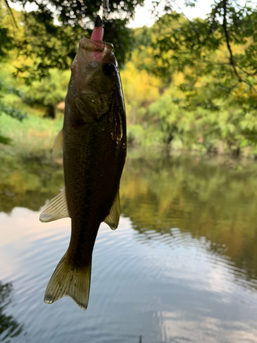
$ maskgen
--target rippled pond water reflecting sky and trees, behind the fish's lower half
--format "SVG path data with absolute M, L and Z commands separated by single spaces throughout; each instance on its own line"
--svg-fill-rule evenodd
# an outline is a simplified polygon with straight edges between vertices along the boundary
M 43 303 L 70 237 L 69 219 L 38 221 L 62 167 L 0 160 L 0 341 L 257 342 L 255 163 L 129 153 L 119 228 L 101 224 L 82 311 Z

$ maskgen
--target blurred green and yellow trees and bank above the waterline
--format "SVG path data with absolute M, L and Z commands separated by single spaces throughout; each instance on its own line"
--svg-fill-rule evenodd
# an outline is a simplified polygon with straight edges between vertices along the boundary
M 20 11 L 2 2 L 0 12 L 1 142 L 50 148 L 62 126 L 78 40 L 90 36 L 101 2 L 13 5 Z M 142 6 L 112 1 L 105 23 L 121 69 L 128 142 L 255 156 L 256 3 Z M 140 21 L 147 25 L 132 28 Z

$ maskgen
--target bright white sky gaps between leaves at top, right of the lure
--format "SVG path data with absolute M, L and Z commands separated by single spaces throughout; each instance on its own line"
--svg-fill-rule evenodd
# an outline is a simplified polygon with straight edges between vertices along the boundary
M 163 1 L 163 0 L 162 0 Z M 136 9 L 136 15 L 134 21 L 130 22 L 129 27 L 141 27 L 143 25 L 151 26 L 154 23 L 154 19 L 151 19 L 152 0 L 145 0 L 145 5 L 141 8 Z M 164 7 L 165 1 L 163 1 L 162 8 Z M 184 6 L 184 0 L 176 0 L 175 3 L 181 8 L 182 12 L 188 17 L 188 19 L 193 19 L 197 16 L 204 18 L 207 13 L 211 10 L 211 5 L 214 0 L 198 0 L 195 4 L 195 8 L 190 8 Z M 173 9 L 176 12 L 181 12 L 180 8 L 174 5 Z M 161 8 L 160 8 L 161 9 Z

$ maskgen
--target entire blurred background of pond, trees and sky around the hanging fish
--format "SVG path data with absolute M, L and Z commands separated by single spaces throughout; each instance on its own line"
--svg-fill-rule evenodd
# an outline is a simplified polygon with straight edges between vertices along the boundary
M 127 160 L 86 312 L 43 303 L 69 219 L 42 207 L 69 67 L 98 0 L 0 2 L 0 341 L 257 342 L 255 1 L 110 1 Z

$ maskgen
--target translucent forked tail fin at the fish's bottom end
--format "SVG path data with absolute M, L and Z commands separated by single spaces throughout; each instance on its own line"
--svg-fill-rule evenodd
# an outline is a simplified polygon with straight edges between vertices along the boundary
M 77 268 L 67 258 L 66 254 L 58 263 L 45 290 L 45 303 L 51 304 L 70 296 L 79 307 L 86 310 L 90 291 L 91 261 L 84 268 Z

